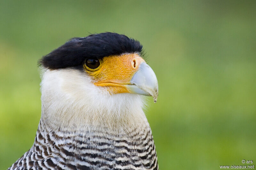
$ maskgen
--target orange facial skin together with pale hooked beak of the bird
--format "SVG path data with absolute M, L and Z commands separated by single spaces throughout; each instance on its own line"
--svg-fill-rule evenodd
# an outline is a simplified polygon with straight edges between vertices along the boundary
M 101 68 L 92 74 L 95 85 L 107 87 L 110 94 L 137 93 L 152 96 L 156 102 L 156 75 L 138 54 L 108 56 L 102 60 Z

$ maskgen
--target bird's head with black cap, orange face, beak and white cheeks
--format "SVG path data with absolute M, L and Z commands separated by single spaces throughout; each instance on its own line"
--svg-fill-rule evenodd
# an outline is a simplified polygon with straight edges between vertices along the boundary
M 70 110 L 78 118 L 141 110 L 141 95 L 158 97 L 156 75 L 143 58 L 139 41 L 117 33 L 69 40 L 39 61 L 42 111 L 70 119 Z

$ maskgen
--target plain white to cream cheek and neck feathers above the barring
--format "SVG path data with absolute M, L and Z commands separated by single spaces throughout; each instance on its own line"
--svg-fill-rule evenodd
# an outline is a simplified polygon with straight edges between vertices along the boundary
M 129 131 L 148 124 L 141 95 L 110 95 L 106 87 L 94 85 L 90 76 L 79 70 L 44 70 L 41 92 L 41 119 L 52 128 Z

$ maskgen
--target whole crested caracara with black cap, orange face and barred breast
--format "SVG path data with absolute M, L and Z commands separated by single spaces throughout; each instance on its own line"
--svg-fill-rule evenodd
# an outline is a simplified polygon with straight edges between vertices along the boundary
M 139 41 L 75 37 L 38 61 L 41 118 L 32 147 L 8 170 L 157 170 L 144 110 L 158 97 Z

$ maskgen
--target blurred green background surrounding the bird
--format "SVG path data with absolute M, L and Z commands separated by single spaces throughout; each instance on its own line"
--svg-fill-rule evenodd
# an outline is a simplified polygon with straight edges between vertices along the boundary
M 17 0 L 0 2 L 0 169 L 34 142 L 37 60 L 106 31 L 139 40 L 158 78 L 146 115 L 160 169 L 256 162 L 256 1 Z

